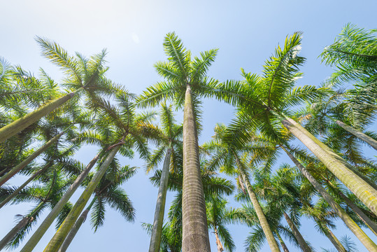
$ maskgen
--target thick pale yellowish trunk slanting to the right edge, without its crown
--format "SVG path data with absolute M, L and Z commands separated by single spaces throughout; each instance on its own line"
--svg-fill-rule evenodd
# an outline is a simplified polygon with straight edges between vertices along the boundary
M 377 214 L 377 190 L 357 176 L 347 162 L 315 138 L 291 118 L 282 119 L 283 125 L 297 137 L 345 186 L 347 186 L 374 214 Z

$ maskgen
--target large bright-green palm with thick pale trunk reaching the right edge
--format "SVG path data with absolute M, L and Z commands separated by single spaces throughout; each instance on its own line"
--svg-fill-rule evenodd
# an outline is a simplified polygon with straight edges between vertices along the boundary
M 232 132 L 239 134 L 245 129 L 258 129 L 270 139 L 277 140 L 274 125 L 282 123 L 297 137 L 344 185 L 346 185 L 364 204 L 377 214 L 377 190 L 360 176 L 339 155 L 319 141 L 297 121 L 290 118 L 290 106 L 305 99 L 315 98 L 324 89 L 313 86 L 293 87 L 301 77 L 299 66 L 304 58 L 297 54 L 301 48 L 301 34 L 294 33 L 285 39 L 283 50 L 278 47 L 275 55 L 264 66 L 264 75 L 246 73 L 242 69 L 243 82 L 230 81 L 221 90 L 227 102 L 239 106 L 238 118 L 232 124 Z M 234 95 L 229 95 L 231 93 Z M 248 134 L 240 138 L 241 145 L 249 141 Z M 229 138 L 233 138 L 232 134 Z

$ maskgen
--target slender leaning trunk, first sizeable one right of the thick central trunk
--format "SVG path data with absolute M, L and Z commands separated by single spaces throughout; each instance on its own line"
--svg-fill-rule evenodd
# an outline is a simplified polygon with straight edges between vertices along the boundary
M 249 178 L 245 170 L 243 169 L 243 166 L 241 165 L 241 161 L 239 160 L 237 156 L 235 158 L 236 158 L 237 166 L 239 168 L 239 172 L 243 179 L 243 183 L 245 183 L 246 190 L 248 191 L 248 195 L 250 197 L 252 207 L 254 207 L 255 213 L 257 213 L 259 223 L 262 227 L 264 235 L 266 235 L 266 239 L 270 246 L 270 249 L 273 252 L 280 252 L 280 248 L 278 244 L 276 243 L 275 237 L 273 237 L 273 233 L 271 231 L 270 225 L 266 219 L 266 216 L 264 215 L 262 207 L 260 206 L 258 202 L 257 195 L 255 195 L 254 190 L 252 190 L 252 186 L 250 184 Z

